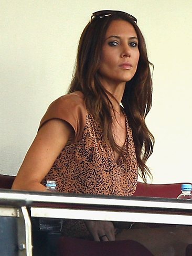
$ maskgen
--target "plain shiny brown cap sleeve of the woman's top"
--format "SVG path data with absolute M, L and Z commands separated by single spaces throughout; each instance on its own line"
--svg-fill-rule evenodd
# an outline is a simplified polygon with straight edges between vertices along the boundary
M 83 94 L 81 92 L 66 94 L 49 105 L 40 121 L 39 129 L 51 119 L 60 119 L 72 126 L 75 134 L 74 141 L 78 141 L 86 125 L 86 114 Z

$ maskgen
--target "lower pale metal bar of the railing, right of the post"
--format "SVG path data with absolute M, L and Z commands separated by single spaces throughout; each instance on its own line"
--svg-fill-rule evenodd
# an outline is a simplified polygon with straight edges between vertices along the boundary
M 152 214 L 146 212 L 117 212 L 53 208 L 45 209 L 31 207 L 31 217 L 192 225 L 192 216 L 175 214 Z

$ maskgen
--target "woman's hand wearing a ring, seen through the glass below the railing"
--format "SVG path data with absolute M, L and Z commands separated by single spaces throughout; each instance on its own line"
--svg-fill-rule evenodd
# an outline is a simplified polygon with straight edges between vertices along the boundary
M 111 221 L 85 220 L 94 241 L 114 241 L 115 232 Z

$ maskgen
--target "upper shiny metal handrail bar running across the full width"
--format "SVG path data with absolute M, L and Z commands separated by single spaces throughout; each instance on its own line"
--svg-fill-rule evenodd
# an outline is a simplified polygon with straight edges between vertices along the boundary
M 0 191 L 0 205 L 2 200 L 20 201 L 22 204 L 33 205 L 36 202 L 57 203 L 62 207 L 63 204 L 77 205 L 95 205 L 95 206 L 127 206 L 127 207 L 153 207 L 153 208 L 172 208 L 192 211 L 192 201 L 178 199 L 162 199 L 162 198 L 142 198 L 142 197 L 112 197 L 112 196 L 94 196 L 94 195 L 68 195 L 57 193 L 57 195 L 47 195 L 48 193 L 29 193 L 28 191 L 3 193 Z M 7 202 L 8 203 L 8 202 Z

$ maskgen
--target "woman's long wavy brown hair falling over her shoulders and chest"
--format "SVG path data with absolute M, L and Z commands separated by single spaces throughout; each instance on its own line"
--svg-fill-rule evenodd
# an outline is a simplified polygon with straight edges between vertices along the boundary
M 133 132 L 139 174 L 146 182 L 146 176 L 151 176 L 146 161 L 152 154 L 154 145 L 154 137 L 145 124 L 146 115 L 152 105 L 151 62 L 147 58 L 145 40 L 141 30 L 126 14 L 117 13 L 102 19 L 95 18 L 84 28 L 79 41 L 76 68 L 68 93 L 81 91 L 84 94 L 88 111 L 102 126 L 104 140 L 111 144 L 114 151 L 121 153 L 121 148 L 115 143 L 112 135 L 112 103 L 98 74 L 106 30 L 112 20 L 116 19 L 131 23 L 138 37 L 140 59 L 134 77 L 126 82 L 122 105 Z

